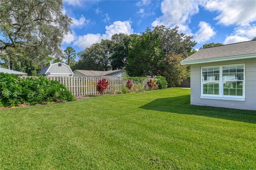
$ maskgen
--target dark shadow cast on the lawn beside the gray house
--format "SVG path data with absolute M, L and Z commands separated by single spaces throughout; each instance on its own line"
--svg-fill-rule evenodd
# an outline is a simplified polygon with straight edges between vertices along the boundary
M 190 105 L 190 95 L 156 99 L 141 109 L 256 123 L 256 111 Z

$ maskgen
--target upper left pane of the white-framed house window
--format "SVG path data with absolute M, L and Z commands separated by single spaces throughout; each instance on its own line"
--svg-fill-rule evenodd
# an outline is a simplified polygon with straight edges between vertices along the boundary
M 220 68 L 208 67 L 202 68 L 202 81 L 218 81 L 220 80 Z

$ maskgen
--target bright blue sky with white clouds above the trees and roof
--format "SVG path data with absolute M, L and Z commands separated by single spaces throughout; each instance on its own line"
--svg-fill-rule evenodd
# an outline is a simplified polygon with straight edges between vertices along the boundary
M 179 26 L 194 36 L 195 49 L 205 43 L 224 44 L 256 36 L 256 1 L 79 1 L 64 0 L 63 13 L 73 20 L 62 48 L 77 52 L 113 34 L 139 34 L 147 27 Z

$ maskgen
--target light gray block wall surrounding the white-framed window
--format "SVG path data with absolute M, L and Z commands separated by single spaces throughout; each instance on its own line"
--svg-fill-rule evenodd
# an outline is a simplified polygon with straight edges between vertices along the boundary
M 200 69 L 205 66 L 228 65 L 245 63 L 245 101 L 228 101 L 216 99 L 200 99 L 201 75 Z M 244 59 L 237 61 L 224 61 L 190 65 L 190 103 L 191 105 L 226 107 L 233 109 L 256 110 L 256 59 Z

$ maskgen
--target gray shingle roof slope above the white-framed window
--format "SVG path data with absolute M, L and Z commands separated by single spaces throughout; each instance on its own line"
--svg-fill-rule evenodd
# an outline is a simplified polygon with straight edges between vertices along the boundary
M 256 53 L 255 40 L 248 41 L 248 42 L 220 45 L 216 47 L 203 48 L 198 50 L 196 53 L 190 55 L 186 59 L 182 60 L 181 62 L 251 54 L 251 53 Z

